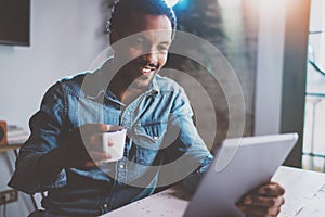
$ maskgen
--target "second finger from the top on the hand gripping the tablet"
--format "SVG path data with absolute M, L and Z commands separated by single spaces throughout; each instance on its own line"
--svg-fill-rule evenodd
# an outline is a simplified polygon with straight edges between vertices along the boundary
M 285 203 L 283 196 L 260 196 L 260 195 L 248 195 L 245 196 L 243 202 L 244 205 L 255 205 L 263 207 L 281 206 Z

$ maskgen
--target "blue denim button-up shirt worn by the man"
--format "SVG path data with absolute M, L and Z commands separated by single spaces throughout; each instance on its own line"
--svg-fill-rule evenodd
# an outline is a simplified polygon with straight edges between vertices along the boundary
M 101 215 L 180 180 L 194 189 L 212 158 L 177 82 L 156 75 L 150 89 L 126 106 L 107 88 L 107 74 L 100 68 L 56 82 L 30 118 L 31 135 L 9 186 L 29 194 L 48 191 L 42 206 L 49 214 Z M 64 168 L 52 183 L 41 183 L 39 157 L 68 145 L 63 141 L 69 132 L 89 123 L 127 129 L 122 159 L 90 169 Z

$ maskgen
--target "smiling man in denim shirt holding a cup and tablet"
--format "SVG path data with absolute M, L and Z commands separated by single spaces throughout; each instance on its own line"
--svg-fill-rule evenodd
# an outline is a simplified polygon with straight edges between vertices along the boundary
M 39 216 L 98 216 L 180 180 L 193 190 L 211 162 L 183 89 L 157 75 L 176 31 L 172 10 L 160 0 L 121 0 L 110 23 L 114 58 L 56 82 L 30 119 L 10 186 L 48 191 Z M 108 124 L 125 127 L 128 138 L 123 158 L 107 163 L 96 135 Z M 276 216 L 283 193 L 269 183 L 238 207 Z

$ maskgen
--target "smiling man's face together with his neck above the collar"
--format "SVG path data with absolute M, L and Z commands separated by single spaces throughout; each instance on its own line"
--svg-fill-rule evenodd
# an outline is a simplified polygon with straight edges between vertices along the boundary
M 130 21 L 138 22 L 129 23 L 128 28 L 114 28 L 110 33 L 110 42 L 115 50 L 113 64 L 122 65 L 112 80 L 110 88 L 121 101 L 128 103 L 132 101 L 130 95 L 133 99 L 148 89 L 165 65 L 173 36 L 171 22 L 166 15 L 133 11 L 129 16 Z M 117 23 L 115 18 L 113 15 L 113 23 Z M 114 44 L 121 39 L 123 41 L 116 48 Z

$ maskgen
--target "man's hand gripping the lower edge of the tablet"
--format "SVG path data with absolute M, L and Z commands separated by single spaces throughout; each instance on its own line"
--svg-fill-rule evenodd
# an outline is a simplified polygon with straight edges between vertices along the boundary
M 276 182 L 269 182 L 246 194 L 237 204 L 247 216 L 277 216 L 284 204 L 285 190 Z

